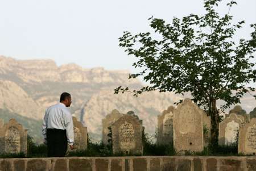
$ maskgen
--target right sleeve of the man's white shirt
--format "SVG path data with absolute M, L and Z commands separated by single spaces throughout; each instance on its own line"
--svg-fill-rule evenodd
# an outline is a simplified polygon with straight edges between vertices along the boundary
M 64 114 L 65 127 L 67 131 L 68 144 L 73 145 L 74 143 L 74 127 L 73 119 L 70 112 L 65 112 Z

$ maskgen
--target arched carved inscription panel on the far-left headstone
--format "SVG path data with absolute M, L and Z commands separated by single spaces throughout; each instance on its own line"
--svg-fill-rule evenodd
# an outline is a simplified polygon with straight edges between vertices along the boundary
M 10 127 L 5 135 L 5 151 L 7 153 L 20 152 L 20 135 L 16 127 Z

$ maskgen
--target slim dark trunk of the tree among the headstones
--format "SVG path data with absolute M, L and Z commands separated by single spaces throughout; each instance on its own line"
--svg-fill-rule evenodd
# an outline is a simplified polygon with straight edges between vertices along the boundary
M 212 128 L 210 130 L 210 143 L 213 146 L 218 145 L 218 109 L 216 99 L 210 99 L 209 114 L 211 119 Z

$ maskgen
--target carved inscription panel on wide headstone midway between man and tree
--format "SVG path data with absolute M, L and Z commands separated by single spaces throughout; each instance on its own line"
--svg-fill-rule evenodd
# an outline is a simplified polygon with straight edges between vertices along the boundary
M 123 123 L 119 128 L 119 145 L 122 150 L 135 147 L 134 129 L 131 123 Z

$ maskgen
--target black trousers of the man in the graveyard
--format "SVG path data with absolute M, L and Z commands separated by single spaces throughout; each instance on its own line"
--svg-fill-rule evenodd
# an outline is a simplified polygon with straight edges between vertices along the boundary
M 47 129 L 48 157 L 64 157 L 68 149 L 66 130 Z

